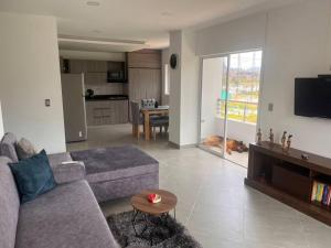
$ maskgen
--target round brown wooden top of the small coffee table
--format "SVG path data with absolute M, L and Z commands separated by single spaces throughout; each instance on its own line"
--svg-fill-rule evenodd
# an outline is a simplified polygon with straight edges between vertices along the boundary
M 160 203 L 150 203 L 147 198 L 149 194 L 159 194 L 162 197 Z M 177 205 L 177 196 L 169 191 L 163 190 L 148 190 L 134 195 L 131 197 L 131 205 L 135 209 L 151 214 L 161 215 L 169 213 Z

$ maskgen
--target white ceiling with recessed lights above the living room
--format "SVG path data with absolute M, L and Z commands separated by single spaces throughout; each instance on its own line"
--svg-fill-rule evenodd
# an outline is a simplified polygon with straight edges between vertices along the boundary
M 87 1 L 99 6 L 87 6 Z M 169 31 L 202 28 L 295 0 L 1 0 L 0 10 L 54 15 L 58 34 L 89 40 L 124 40 L 122 44 L 95 44 L 86 50 L 130 51 L 134 43 L 167 47 Z M 127 41 L 130 41 L 127 43 Z M 81 50 L 86 42 L 62 41 L 66 48 Z M 137 44 L 134 44 L 137 45 Z M 126 47 L 127 46 L 127 47 Z

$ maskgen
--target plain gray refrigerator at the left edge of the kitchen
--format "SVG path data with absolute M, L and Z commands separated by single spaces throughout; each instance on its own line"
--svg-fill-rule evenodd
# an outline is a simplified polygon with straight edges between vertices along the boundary
M 61 74 L 65 141 L 87 139 L 84 74 Z

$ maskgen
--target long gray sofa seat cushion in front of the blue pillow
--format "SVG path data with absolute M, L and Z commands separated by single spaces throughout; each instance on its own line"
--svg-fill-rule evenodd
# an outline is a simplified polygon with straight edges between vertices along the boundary
M 15 248 L 117 248 L 85 180 L 58 185 L 21 206 Z

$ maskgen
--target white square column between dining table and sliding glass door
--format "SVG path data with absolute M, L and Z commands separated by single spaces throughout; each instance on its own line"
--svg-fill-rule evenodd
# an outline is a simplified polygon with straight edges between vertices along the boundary
M 170 134 L 178 145 L 197 143 L 199 57 L 196 35 L 191 31 L 170 32 L 170 54 L 178 54 L 177 69 L 170 69 Z

